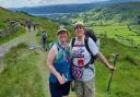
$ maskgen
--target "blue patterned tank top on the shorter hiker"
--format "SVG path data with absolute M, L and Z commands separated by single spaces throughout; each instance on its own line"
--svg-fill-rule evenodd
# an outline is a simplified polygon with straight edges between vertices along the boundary
M 58 43 L 55 44 L 57 46 L 57 57 L 54 61 L 55 69 L 66 77 L 69 82 L 71 81 L 70 65 L 71 65 L 71 53 L 70 49 L 61 47 Z M 57 77 L 50 72 L 49 82 L 58 83 Z

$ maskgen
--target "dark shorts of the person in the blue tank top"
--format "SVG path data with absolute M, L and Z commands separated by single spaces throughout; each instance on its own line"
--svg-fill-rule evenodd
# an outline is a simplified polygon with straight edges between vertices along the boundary
M 49 82 L 49 89 L 51 97 L 68 96 L 70 93 L 70 82 L 67 82 L 63 85 L 60 85 L 59 83 L 54 84 Z

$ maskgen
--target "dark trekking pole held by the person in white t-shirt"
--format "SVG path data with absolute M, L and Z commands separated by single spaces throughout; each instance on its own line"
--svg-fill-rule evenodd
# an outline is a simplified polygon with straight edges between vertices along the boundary
M 113 58 L 114 58 L 113 64 L 114 64 L 114 66 L 116 65 L 118 56 L 119 56 L 118 53 L 113 53 Z M 114 71 L 112 71 L 112 74 L 110 74 L 110 77 L 109 77 L 109 82 L 108 82 L 108 86 L 107 86 L 107 92 L 109 90 L 113 75 L 114 75 Z

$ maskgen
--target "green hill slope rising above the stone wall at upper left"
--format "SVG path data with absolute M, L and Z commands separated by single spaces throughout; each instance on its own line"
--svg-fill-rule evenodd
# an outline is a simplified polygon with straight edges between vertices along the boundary
M 39 26 L 43 28 L 46 28 L 48 32 L 55 32 L 57 25 L 50 22 L 50 20 L 44 19 L 44 17 L 36 17 L 34 15 L 31 15 L 26 12 L 12 12 L 8 9 L 0 8 L 0 25 L 3 24 L 8 26 L 7 20 L 14 20 L 14 19 L 23 19 L 23 20 L 30 20 L 32 22 L 38 23 Z

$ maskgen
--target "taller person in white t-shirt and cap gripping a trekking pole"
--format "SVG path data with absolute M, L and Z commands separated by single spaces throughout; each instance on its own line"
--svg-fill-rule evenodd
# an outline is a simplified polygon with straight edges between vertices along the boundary
M 77 97 L 95 97 L 95 66 L 93 58 L 98 58 L 112 71 L 115 68 L 109 64 L 105 56 L 98 50 L 94 40 L 86 37 L 84 33 L 83 23 L 75 23 L 75 38 L 70 43 L 72 76 L 74 77 Z

